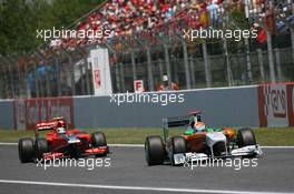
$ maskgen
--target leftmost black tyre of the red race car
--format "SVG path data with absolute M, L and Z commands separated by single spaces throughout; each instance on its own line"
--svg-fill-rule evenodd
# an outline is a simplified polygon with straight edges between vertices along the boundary
M 32 139 L 20 139 L 18 142 L 19 160 L 21 163 L 32 162 L 33 141 Z

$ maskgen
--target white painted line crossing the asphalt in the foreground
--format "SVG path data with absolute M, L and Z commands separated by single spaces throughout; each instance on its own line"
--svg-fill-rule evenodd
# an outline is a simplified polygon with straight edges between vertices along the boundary
M 274 192 L 252 192 L 252 191 L 219 191 L 219 190 L 197 190 L 197 188 L 168 188 L 168 187 L 146 187 L 146 186 L 117 186 L 117 185 L 96 185 L 96 184 L 74 184 L 74 183 L 55 183 L 55 182 L 35 182 L 35 181 L 16 181 L 0 180 L 0 183 L 7 184 L 27 184 L 45 186 L 67 186 L 67 187 L 86 187 L 86 188 L 105 188 L 105 190 L 130 190 L 130 191 L 156 191 L 156 192 L 178 192 L 178 193 L 215 193 L 215 194 L 293 194 L 293 193 L 274 193 Z

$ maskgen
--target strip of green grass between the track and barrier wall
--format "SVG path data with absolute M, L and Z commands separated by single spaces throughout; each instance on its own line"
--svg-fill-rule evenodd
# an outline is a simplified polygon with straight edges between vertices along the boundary
M 97 130 L 87 130 L 94 132 Z M 161 129 L 100 129 L 107 142 L 118 144 L 143 144 L 148 135 L 163 135 Z M 180 134 L 183 130 L 170 130 L 170 135 Z M 254 129 L 261 145 L 294 145 L 294 127 Z M 33 137 L 33 131 L 0 130 L 0 142 L 18 142 L 21 137 Z

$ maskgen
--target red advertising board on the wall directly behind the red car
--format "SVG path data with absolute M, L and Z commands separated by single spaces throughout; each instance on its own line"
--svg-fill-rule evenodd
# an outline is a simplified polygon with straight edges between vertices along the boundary
M 14 126 L 21 130 L 20 124 L 24 122 L 27 130 L 35 127 L 39 121 L 48 121 L 56 116 L 67 120 L 68 126 L 75 126 L 74 101 L 72 98 L 40 98 L 14 101 Z M 23 109 L 19 106 L 23 104 Z M 24 121 L 23 121 L 24 118 Z M 20 119 L 22 119 L 20 121 Z

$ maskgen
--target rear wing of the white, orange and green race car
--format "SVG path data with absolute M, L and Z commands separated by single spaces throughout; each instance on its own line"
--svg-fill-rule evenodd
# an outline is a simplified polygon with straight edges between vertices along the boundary
M 177 127 L 177 126 L 188 125 L 189 120 L 190 120 L 189 115 L 163 119 L 163 129 L 164 129 L 165 142 L 168 139 L 168 127 Z

